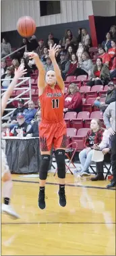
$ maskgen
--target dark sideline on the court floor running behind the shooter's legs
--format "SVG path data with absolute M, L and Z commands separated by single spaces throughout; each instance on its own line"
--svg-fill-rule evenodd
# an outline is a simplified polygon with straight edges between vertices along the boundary
M 36 183 L 39 184 L 38 181 L 31 181 L 31 180 L 12 180 L 13 182 L 24 182 L 24 183 Z M 46 184 L 49 185 L 59 185 L 59 183 L 51 183 L 51 182 L 46 182 Z M 107 189 L 107 190 L 115 190 L 115 188 L 104 188 L 103 186 L 82 186 L 82 185 L 74 185 L 74 184 L 65 184 L 65 186 L 76 186 L 79 188 L 98 188 L 98 189 Z

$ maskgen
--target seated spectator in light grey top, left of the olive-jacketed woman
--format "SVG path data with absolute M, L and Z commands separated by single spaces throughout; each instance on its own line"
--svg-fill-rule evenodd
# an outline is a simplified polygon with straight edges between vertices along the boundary
M 80 76 L 80 75 L 87 75 L 89 70 L 92 70 L 92 60 L 90 59 L 89 54 L 87 51 L 84 51 L 82 53 L 82 63 L 78 62 L 78 68 L 74 71 L 74 76 Z

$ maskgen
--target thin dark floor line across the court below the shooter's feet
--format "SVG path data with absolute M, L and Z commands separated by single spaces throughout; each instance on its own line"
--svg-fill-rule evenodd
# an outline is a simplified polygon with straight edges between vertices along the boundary
M 116 224 L 116 222 L 3 222 L 1 225 L 9 224 Z

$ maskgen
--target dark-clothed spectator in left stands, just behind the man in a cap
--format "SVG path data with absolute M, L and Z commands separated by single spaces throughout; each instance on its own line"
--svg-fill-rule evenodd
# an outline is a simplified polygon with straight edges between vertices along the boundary
M 24 106 L 24 99 L 18 100 L 18 108 L 13 111 L 13 113 L 10 116 L 9 122 L 11 124 L 17 124 L 17 115 L 18 113 L 23 113 L 23 111 L 26 109 Z

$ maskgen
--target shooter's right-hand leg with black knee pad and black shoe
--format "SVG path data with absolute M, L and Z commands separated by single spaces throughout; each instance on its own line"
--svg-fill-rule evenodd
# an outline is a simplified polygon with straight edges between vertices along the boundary
M 65 207 L 65 149 L 56 149 L 57 176 L 59 177 L 59 205 Z

